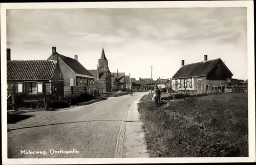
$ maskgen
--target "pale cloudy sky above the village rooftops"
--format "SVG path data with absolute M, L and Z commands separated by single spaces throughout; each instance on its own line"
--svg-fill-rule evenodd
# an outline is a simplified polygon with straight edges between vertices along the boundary
M 111 72 L 171 78 L 185 64 L 221 58 L 247 79 L 246 8 L 8 9 L 11 60 L 59 54 L 96 69 L 102 46 Z

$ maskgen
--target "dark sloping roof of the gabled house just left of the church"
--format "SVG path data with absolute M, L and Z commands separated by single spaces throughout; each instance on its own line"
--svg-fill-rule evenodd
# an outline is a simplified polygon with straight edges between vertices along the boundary
M 60 55 L 56 53 L 58 57 L 65 62 L 76 74 L 81 74 L 81 75 L 88 75 L 88 76 L 93 76 L 79 61 L 76 59 Z M 52 54 L 48 60 L 53 60 L 53 55 Z

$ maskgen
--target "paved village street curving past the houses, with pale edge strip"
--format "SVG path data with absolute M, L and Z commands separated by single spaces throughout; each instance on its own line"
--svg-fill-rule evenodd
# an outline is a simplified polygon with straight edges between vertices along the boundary
M 147 93 L 20 114 L 32 116 L 8 124 L 8 158 L 146 157 L 136 103 Z

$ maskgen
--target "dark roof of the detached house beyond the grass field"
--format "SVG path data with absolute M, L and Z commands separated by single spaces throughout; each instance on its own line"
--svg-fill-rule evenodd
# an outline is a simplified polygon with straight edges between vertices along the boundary
M 184 78 L 184 77 L 195 77 L 195 76 L 206 76 L 214 66 L 221 62 L 225 67 L 224 62 L 218 58 L 214 60 L 202 61 L 197 63 L 191 63 L 181 66 L 180 69 L 172 78 Z M 228 72 L 233 76 L 230 70 L 226 67 Z

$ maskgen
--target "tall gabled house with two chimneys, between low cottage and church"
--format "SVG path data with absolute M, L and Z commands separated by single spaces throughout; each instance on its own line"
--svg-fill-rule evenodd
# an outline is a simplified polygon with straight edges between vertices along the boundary
M 64 86 L 93 86 L 93 75 L 78 61 L 75 55 L 74 59 L 63 56 L 56 52 L 56 47 L 52 47 L 52 55 L 47 60 L 58 60 L 64 79 Z

